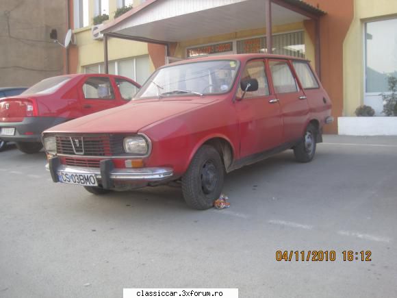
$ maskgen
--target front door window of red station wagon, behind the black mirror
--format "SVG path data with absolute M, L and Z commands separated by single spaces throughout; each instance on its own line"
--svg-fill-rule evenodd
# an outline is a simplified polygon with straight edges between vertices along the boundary
M 244 79 L 257 79 L 258 90 L 253 92 L 246 92 L 244 98 L 253 98 L 269 95 L 268 78 L 266 77 L 264 61 L 251 61 L 246 64 L 244 72 L 242 73 L 241 81 Z M 244 90 L 239 86 L 237 96 L 242 97 Z

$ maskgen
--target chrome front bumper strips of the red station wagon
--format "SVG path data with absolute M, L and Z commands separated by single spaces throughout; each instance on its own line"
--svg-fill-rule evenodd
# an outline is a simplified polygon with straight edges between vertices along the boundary
M 49 165 L 46 164 L 46 169 Z M 57 167 L 57 174 L 60 171 L 71 174 L 94 174 L 97 179 L 101 179 L 101 169 L 80 168 L 78 166 L 65 166 L 61 164 Z M 161 181 L 174 174 L 171 168 L 136 168 L 136 169 L 113 169 L 110 171 L 110 179 L 125 181 Z

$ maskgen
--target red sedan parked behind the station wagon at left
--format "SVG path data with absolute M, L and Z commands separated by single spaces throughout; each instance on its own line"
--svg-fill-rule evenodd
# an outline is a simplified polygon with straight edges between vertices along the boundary
M 0 138 L 24 153 L 42 149 L 42 132 L 54 125 L 131 100 L 140 84 L 103 74 L 61 75 L 44 79 L 21 95 L 0 100 Z

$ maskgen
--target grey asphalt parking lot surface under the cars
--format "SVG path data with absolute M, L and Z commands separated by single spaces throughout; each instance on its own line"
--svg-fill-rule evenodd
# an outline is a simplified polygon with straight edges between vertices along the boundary
M 10 145 L 0 153 L 0 297 L 397 297 L 397 137 L 324 136 L 317 150 L 309 164 L 285 151 L 230 173 L 231 207 L 196 211 L 180 188 L 96 197 L 54 184 L 44 153 Z M 335 251 L 335 261 L 277 261 L 276 251 Z

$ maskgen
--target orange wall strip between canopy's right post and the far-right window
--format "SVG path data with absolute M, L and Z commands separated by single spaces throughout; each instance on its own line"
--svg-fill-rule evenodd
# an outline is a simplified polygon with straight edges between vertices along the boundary
M 305 0 L 326 12 L 320 18 L 321 82 L 331 97 L 335 121 L 324 132 L 337 133 L 343 111 L 343 42 L 354 16 L 354 0 Z

